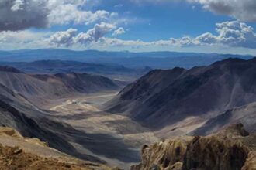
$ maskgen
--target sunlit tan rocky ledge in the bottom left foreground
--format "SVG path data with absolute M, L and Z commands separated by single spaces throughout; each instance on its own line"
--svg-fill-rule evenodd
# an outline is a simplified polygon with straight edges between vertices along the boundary
M 0 169 L 3 170 L 112 170 L 57 151 L 37 138 L 24 138 L 12 128 L 0 127 Z

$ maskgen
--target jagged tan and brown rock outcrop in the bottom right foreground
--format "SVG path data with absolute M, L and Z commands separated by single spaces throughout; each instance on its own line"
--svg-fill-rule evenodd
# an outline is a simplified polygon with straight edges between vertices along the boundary
M 256 135 L 234 124 L 206 137 L 175 137 L 142 148 L 131 170 L 256 170 Z

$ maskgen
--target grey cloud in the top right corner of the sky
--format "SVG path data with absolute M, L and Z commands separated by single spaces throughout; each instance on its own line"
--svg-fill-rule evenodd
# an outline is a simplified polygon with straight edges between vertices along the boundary
M 255 0 L 188 0 L 202 4 L 203 8 L 216 14 L 230 15 L 240 21 L 256 22 Z

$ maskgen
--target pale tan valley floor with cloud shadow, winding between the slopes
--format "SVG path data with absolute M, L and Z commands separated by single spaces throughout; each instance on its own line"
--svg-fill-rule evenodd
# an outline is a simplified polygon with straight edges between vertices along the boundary
M 47 117 L 71 125 L 81 134 L 71 134 L 71 145 L 81 154 L 101 158 L 109 165 L 130 168 L 140 162 L 140 148 L 157 141 L 149 129 L 122 114 L 109 114 L 100 106 L 117 91 L 93 93 L 55 101 L 44 107 Z

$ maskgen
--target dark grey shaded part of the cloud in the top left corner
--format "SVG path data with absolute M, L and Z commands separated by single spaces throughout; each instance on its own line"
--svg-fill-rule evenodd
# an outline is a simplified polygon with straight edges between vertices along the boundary
M 1 0 L 0 32 L 47 27 L 46 7 L 47 0 Z

